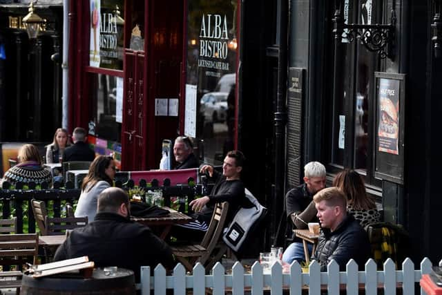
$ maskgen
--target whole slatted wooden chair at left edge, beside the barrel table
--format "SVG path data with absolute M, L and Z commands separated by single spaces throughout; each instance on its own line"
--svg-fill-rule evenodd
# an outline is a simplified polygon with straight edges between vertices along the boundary
M 21 270 L 26 263 L 37 264 L 39 238 L 37 234 L 0 235 L 0 265 L 16 266 Z M 20 294 L 22 273 L 19 271 L 0 272 L 0 288 L 17 288 Z

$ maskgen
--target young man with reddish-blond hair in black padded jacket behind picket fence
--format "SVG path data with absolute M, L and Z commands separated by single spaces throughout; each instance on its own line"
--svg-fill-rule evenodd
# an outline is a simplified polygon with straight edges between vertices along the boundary
M 331 260 L 344 271 L 352 258 L 363 269 L 370 255 L 370 244 L 363 227 L 347 214 L 344 193 L 336 187 L 329 187 L 316 193 L 313 200 L 322 231 L 312 259 L 318 260 L 321 272 L 327 271 Z

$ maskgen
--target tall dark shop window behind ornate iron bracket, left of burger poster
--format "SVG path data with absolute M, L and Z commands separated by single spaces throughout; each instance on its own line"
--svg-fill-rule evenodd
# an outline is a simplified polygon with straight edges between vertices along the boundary
M 343 1 L 343 15 L 347 23 L 371 24 L 382 21 L 383 5 L 372 0 Z M 331 12 L 333 14 L 333 12 Z M 332 19 L 332 17 L 330 18 Z M 331 33 L 331 30 L 330 30 Z M 355 169 L 365 176 L 367 184 L 380 184 L 374 178 L 374 71 L 381 70 L 383 64 L 376 53 L 372 53 L 355 40 L 349 42 L 344 30 L 340 51 L 335 53 L 334 40 L 329 39 L 329 58 L 335 55 L 339 64 L 334 64 L 330 72 L 334 77 L 329 84 L 336 91 L 332 101 L 325 99 L 325 146 L 328 171 L 343 168 Z M 336 70 L 338 69 L 338 70 Z M 332 124 L 329 124 L 332 122 Z

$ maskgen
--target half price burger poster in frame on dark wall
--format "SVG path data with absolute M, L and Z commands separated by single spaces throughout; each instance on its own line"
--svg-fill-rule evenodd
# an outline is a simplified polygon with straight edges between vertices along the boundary
M 396 79 L 379 79 L 378 150 L 399 154 L 399 89 Z

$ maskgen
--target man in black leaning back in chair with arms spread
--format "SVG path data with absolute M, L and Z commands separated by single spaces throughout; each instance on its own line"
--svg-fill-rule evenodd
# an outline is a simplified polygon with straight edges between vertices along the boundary
M 244 193 L 244 184 L 240 180 L 244 155 L 240 151 L 229 151 L 224 164 L 222 164 L 222 175 L 213 169 L 213 166 L 204 165 L 201 172 L 209 172 L 209 176 L 215 180 L 209 196 L 198 198 L 189 203 L 195 213 L 193 221 L 185 225 L 177 225 L 173 229 L 172 236 L 184 240 L 202 240 L 209 228 L 215 204 L 218 202 L 229 202 L 229 211 L 226 222 L 233 219 L 234 214 L 240 207 L 252 207 L 250 200 Z

